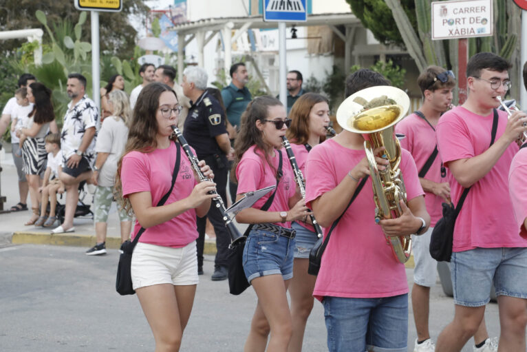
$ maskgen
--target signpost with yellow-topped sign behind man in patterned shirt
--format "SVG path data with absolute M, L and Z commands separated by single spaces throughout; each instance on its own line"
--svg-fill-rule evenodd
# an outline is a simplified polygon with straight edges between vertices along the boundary
M 92 98 L 100 112 L 99 12 L 120 12 L 122 0 L 75 0 L 75 8 L 89 11 L 92 18 Z M 100 118 L 97 124 L 100 126 Z

